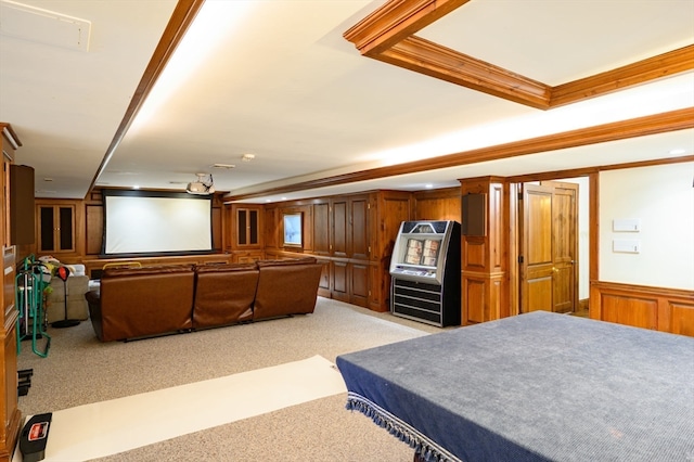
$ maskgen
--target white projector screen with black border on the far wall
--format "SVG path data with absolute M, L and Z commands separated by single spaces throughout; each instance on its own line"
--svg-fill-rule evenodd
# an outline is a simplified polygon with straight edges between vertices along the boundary
M 104 190 L 103 256 L 213 252 L 211 195 Z

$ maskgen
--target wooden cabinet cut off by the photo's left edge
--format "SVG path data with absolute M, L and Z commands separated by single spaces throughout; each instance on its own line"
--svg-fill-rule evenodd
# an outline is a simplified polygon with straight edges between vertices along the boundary
M 2 151 L 2 176 L 0 190 L 2 191 L 2 213 L 0 214 L 0 233 L 2 235 L 2 330 L 0 330 L 0 360 L 2 375 L 0 375 L 0 461 L 12 459 L 16 446 L 22 414 L 17 400 L 17 332 L 16 321 L 18 311 L 14 305 L 15 265 L 17 260 L 16 246 L 10 241 L 10 165 L 14 161 L 15 151 L 22 145 L 9 124 L 0 123 L 0 149 Z

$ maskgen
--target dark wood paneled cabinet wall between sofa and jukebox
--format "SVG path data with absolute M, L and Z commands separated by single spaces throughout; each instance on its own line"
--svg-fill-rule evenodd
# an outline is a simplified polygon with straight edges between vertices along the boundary
M 319 295 L 387 311 L 390 254 L 400 222 L 410 219 L 410 196 L 375 191 L 266 205 L 266 258 L 311 255 L 323 265 Z M 281 242 L 285 214 L 301 214 L 298 248 Z

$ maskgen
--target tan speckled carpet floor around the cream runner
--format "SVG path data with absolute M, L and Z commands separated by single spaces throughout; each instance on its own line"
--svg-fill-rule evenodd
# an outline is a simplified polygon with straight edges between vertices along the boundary
M 314 355 L 334 362 L 344 352 L 440 331 L 325 298 L 319 298 L 309 316 L 130 343 L 101 344 L 87 321 L 50 329 L 48 358 L 34 355 L 30 344 L 23 343 L 18 367 L 34 369 L 34 376 L 20 409 L 25 415 L 54 412 Z M 412 460 L 410 448 L 368 418 L 346 411 L 345 400 L 346 394 L 320 398 L 99 460 Z

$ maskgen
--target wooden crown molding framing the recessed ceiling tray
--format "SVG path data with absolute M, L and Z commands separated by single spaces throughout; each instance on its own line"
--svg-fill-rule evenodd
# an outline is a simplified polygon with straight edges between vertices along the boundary
M 467 1 L 390 0 L 348 29 L 344 37 L 362 55 L 541 110 L 694 68 L 694 46 L 687 46 L 551 87 L 413 35 Z

